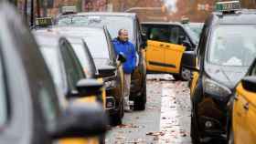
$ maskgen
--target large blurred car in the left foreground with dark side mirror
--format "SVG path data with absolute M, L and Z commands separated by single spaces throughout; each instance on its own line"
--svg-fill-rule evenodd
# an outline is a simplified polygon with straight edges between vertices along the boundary
M 52 144 L 102 134 L 106 121 L 99 105 L 61 107 L 44 58 L 15 8 L 1 1 L 0 17 L 1 144 Z M 89 86 L 94 87 L 80 83 L 82 89 Z

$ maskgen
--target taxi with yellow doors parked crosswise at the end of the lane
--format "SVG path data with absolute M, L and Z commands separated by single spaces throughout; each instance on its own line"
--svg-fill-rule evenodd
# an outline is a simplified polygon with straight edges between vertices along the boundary
M 144 22 L 141 25 L 147 39 L 147 72 L 168 73 L 176 80 L 189 80 L 191 72 L 182 67 L 182 56 L 185 51 L 196 48 L 197 35 L 180 23 Z

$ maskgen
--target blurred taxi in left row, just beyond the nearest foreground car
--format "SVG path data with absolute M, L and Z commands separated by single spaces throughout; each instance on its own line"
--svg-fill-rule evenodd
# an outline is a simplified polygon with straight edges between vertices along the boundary
M 97 92 L 93 92 L 95 91 L 93 87 L 80 89 L 80 85 L 83 83 L 91 83 L 91 85 L 93 84 L 98 87 L 103 86 L 103 83 L 84 75 L 80 61 L 69 41 L 65 37 L 51 32 L 36 31 L 34 35 L 37 38 L 37 43 L 40 46 L 39 49 L 48 64 L 56 87 L 59 89 L 60 96 L 65 97 L 63 98 L 64 101 L 68 103 L 76 100 L 84 102 L 85 104 L 88 102 L 99 102 L 102 106 L 102 89 L 99 89 Z M 70 141 L 69 139 L 67 140 Z M 73 140 L 74 143 L 76 143 L 77 140 Z M 100 143 L 100 141 L 103 140 L 104 139 L 101 139 L 99 136 L 99 139 L 87 138 L 83 141 L 84 143 L 89 143 L 89 141 Z M 62 140 L 60 143 L 66 144 L 66 139 Z

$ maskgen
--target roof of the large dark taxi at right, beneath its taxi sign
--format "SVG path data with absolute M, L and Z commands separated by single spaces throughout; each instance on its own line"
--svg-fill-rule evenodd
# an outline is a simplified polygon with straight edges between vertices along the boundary
M 256 24 L 256 10 L 240 10 L 234 14 L 212 14 L 213 23 L 219 25 L 248 25 Z

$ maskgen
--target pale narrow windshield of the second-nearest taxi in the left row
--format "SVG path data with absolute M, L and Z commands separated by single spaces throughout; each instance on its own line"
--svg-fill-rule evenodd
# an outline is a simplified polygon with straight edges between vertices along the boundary
M 64 89 L 64 82 L 62 78 L 61 66 L 59 63 L 59 55 L 56 47 L 40 46 L 43 57 L 46 60 L 54 83 L 58 88 Z

